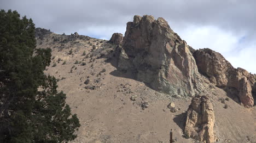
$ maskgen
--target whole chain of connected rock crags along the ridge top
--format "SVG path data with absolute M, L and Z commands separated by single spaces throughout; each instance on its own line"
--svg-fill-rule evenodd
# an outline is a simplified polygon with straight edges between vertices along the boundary
M 171 95 L 195 96 L 205 89 L 207 83 L 202 79 L 208 78 L 219 88 L 234 88 L 238 102 L 245 107 L 254 105 L 255 75 L 235 69 L 211 49 L 188 46 L 164 18 L 136 15 L 127 23 L 124 38 L 120 36 L 115 33 L 110 40 L 121 47 L 118 69 L 132 72 L 151 88 Z

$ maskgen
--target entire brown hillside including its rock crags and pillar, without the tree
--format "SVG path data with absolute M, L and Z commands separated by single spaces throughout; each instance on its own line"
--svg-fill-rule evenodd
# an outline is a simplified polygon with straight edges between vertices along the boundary
M 163 18 L 135 16 L 109 41 L 41 28 L 36 38 L 82 125 L 73 142 L 168 142 L 171 129 L 176 142 L 255 142 L 255 75 L 191 48 Z

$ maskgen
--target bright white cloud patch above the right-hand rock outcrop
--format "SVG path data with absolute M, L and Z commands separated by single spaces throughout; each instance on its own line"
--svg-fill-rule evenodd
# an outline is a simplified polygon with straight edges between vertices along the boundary
M 256 47 L 253 42 L 245 39 L 245 33 L 234 34 L 212 26 L 189 26 L 185 29 L 176 29 L 176 32 L 191 47 L 213 49 L 222 54 L 232 66 L 256 73 Z

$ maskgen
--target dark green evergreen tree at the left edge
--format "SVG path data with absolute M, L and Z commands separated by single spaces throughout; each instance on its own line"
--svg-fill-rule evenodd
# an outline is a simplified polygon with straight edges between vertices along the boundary
M 51 49 L 36 49 L 34 30 L 26 16 L 0 11 L 0 142 L 67 142 L 80 126 L 43 72 Z

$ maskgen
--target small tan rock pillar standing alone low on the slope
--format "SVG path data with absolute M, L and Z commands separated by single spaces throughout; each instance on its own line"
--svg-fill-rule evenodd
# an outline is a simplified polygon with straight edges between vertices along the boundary
M 206 143 L 214 142 L 214 112 L 209 98 L 206 96 L 193 97 L 187 111 L 184 134 Z

